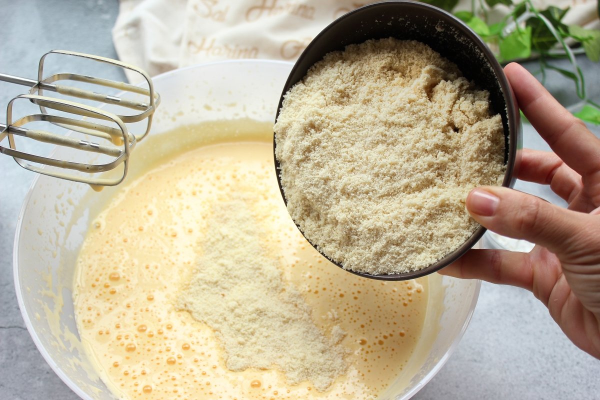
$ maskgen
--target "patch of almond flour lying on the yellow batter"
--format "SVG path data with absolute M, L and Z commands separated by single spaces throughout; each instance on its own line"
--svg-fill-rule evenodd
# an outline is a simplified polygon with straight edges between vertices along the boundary
M 331 339 L 311 318 L 311 309 L 261 242 L 259 217 L 240 194 L 215 205 L 189 287 L 178 308 L 189 311 L 220 339 L 227 368 L 279 369 L 289 384 L 310 381 L 320 392 L 346 372 L 343 330 Z

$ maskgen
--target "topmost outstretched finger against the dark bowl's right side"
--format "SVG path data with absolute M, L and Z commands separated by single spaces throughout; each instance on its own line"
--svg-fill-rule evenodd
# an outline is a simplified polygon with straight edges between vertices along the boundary
M 553 151 L 581 176 L 600 175 L 600 139 L 525 68 L 511 63 L 504 71 L 520 109 Z

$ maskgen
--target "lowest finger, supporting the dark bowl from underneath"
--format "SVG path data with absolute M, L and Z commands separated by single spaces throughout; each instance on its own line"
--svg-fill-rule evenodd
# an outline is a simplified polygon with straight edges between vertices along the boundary
M 439 270 L 442 275 L 463 279 L 533 288 L 533 270 L 529 254 L 508 250 L 471 249 L 451 265 Z

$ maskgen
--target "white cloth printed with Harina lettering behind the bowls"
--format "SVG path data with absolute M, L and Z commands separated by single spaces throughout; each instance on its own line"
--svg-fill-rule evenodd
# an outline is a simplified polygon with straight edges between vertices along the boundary
M 596 1 L 534 3 L 541 9 L 550 4 L 571 7 L 565 23 L 592 27 L 600 25 Z M 295 61 L 330 22 L 371 2 L 374 1 L 121 0 L 113 41 L 122 61 L 143 68 L 151 76 L 224 59 Z M 460 0 L 457 8 L 470 7 L 471 0 Z

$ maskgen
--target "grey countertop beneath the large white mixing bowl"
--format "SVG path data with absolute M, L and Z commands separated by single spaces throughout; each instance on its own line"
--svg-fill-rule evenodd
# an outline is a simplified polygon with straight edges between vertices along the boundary
M 34 77 L 39 57 L 52 49 L 116 58 L 110 35 L 116 0 L 0 0 L 0 10 L 2 73 Z M 600 66 L 580 61 L 600 102 Z M 547 85 L 574 101 L 572 83 L 550 75 Z M 0 88 L 1 107 L 24 89 L 3 82 Z M 524 145 L 547 149 L 528 125 Z M 0 170 L 0 399 L 76 399 L 35 348 L 14 291 L 14 233 L 34 173 L 4 156 Z M 543 187 L 520 182 L 518 188 L 554 200 Z M 484 282 L 464 338 L 415 399 L 600 399 L 599 377 L 600 361 L 571 344 L 531 293 Z

